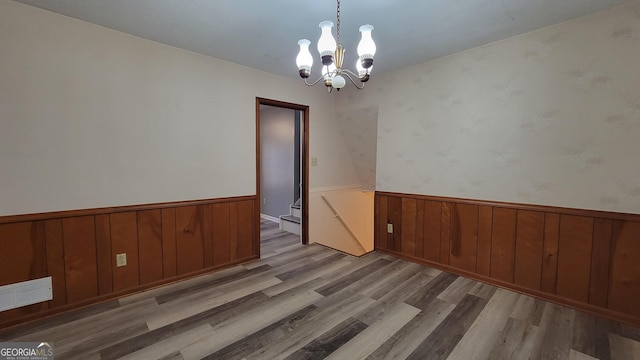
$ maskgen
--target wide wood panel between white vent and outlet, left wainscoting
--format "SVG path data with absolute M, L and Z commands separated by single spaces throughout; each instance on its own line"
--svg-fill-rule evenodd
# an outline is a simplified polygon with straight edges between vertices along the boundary
M 98 265 L 94 217 L 62 219 L 67 303 L 98 296 Z

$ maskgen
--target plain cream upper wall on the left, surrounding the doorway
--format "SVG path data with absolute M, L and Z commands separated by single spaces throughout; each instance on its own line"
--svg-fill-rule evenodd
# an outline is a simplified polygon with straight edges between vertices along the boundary
M 311 106 L 311 187 L 357 183 L 324 89 L 0 0 L 0 215 L 255 194 L 256 96 Z

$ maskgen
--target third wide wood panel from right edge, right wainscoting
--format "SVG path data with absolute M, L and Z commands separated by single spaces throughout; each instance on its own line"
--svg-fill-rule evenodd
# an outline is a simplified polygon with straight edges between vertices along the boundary
M 542 283 L 542 248 L 544 246 L 544 213 L 518 210 L 514 282 L 540 290 Z

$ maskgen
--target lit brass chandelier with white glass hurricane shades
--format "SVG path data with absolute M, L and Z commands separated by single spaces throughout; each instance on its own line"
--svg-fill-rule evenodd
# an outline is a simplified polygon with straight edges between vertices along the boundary
M 298 45 L 300 45 L 300 52 L 296 57 L 296 65 L 298 65 L 300 77 L 304 79 L 304 83 L 308 86 L 314 86 L 320 81 L 324 81 L 324 85 L 327 87 L 329 92 L 334 88 L 337 91 L 340 91 L 340 89 L 342 89 L 347 83 L 345 77 L 349 79 L 356 88 L 363 89 L 365 83 L 369 81 L 369 75 L 373 68 L 373 55 L 376 53 L 376 44 L 371 38 L 371 30 L 373 30 L 373 26 L 360 26 L 362 38 L 360 39 L 360 43 L 358 43 L 356 73 L 342 68 L 345 49 L 340 43 L 340 0 L 338 0 L 336 19 L 337 42 L 331 34 L 333 23 L 331 21 L 323 21 L 320 23 L 322 33 L 318 40 L 318 52 L 320 53 L 320 58 L 322 60 L 322 75 L 318 80 L 312 83 L 307 80 L 311 75 L 311 66 L 313 65 L 313 57 L 309 52 L 309 45 L 311 45 L 311 41 L 307 39 L 301 39 L 298 41 Z M 358 82 L 356 83 L 356 81 Z

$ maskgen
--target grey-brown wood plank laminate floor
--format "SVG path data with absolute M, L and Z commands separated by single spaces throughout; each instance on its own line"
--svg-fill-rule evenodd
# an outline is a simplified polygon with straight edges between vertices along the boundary
M 0 332 L 56 359 L 640 359 L 640 329 L 263 222 L 248 264 Z

